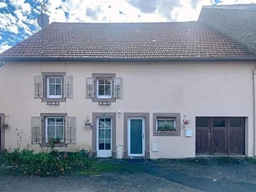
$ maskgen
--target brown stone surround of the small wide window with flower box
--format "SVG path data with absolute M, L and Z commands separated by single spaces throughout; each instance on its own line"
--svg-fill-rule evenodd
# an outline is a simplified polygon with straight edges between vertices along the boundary
M 159 117 L 175 117 L 176 119 L 176 126 L 177 132 L 159 132 L 157 131 L 156 123 L 157 118 Z M 181 115 L 180 113 L 153 113 L 153 136 L 174 136 L 180 137 L 180 122 L 181 122 Z

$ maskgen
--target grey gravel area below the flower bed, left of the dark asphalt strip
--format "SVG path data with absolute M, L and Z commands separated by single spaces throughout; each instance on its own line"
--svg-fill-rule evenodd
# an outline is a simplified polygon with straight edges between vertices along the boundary
M 0 175 L 0 191 L 199 191 L 141 172 L 106 172 L 101 175 L 58 178 Z

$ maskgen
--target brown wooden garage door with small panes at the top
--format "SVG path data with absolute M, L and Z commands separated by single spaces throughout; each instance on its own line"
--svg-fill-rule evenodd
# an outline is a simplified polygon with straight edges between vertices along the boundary
M 196 154 L 244 155 L 244 117 L 196 117 Z

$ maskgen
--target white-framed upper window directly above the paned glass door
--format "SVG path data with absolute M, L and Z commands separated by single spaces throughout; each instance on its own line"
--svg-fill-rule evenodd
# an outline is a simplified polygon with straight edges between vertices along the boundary
M 112 98 L 112 78 L 97 78 L 97 98 Z

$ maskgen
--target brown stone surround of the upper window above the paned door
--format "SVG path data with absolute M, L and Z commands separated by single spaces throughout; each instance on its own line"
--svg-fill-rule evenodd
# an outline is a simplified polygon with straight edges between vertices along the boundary
M 116 102 L 116 98 L 113 98 L 114 93 L 114 77 L 116 77 L 115 73 L 93 73 L 92 77 L 94 78 L 94 98 L 92 98 L 92 102 Z M 97 78 L 112 78 L 112 95 L 111 98 L 97 98 Z

